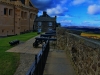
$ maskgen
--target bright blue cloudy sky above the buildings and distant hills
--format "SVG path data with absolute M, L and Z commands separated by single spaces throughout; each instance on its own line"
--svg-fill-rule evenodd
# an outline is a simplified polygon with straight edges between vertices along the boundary
M 100 0 L 31 0 L 39 9 L 57 16 L 61 26 L 100 27 Z

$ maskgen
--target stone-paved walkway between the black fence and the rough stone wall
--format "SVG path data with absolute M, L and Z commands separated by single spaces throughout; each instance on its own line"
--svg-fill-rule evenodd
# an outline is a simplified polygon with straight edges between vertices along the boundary
M 49 52 L 43 75 L 75 75 L 65 51 Z

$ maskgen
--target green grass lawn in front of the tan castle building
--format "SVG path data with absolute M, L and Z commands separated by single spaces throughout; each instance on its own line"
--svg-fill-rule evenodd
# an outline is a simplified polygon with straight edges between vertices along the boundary
M 17 36 L 0 38 L 0 75 L 13 75 L 19 65 L 19 53 L 5 52 L 11 48 L 9 41 L 16 39 L 26 41 L 36 35 L 36 32 L 31 32 Z

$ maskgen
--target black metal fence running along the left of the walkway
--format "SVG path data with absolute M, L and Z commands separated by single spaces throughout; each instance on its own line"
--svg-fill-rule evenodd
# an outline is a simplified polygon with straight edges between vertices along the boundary
M 49 40 L 47 40 L 46 44 L 42 46 L 42 50 L 35 55 L 35 61 L 26 75 L 43 75 L 49 49 Z

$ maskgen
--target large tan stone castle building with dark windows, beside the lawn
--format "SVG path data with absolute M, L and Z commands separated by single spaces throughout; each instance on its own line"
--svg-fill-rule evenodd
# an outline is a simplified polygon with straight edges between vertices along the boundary
M 0 36 L 32 31 L 37 13 L 30 0 L 0 0 Z

